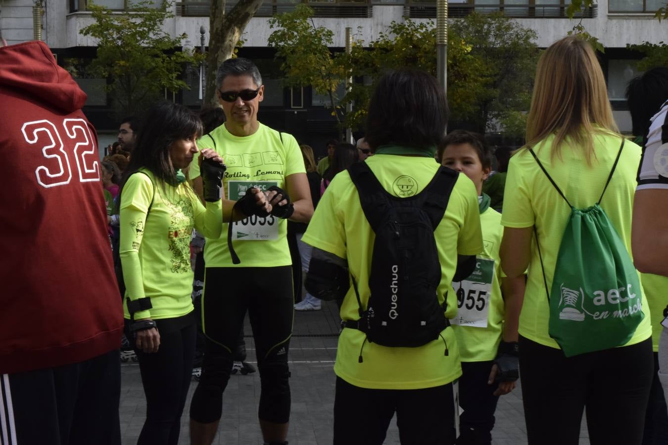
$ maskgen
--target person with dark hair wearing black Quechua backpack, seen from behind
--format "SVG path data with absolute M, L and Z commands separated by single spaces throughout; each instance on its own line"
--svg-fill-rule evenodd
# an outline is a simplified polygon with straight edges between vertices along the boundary
M 451 286 L 470 275 L 483 246 L 476 187 L 434 162 L 446 103 L 427 73 L 384 75 L 367 120 L 375 155 L 336 175 L 303 237 L 313 246 L 307 290 L 343 298 L 335 445 L 382 444 L 395 413 L 404 444 L 455 440 L 452 383 L 462 368 Z M 429 219 L 409 224 L 402 215 Z

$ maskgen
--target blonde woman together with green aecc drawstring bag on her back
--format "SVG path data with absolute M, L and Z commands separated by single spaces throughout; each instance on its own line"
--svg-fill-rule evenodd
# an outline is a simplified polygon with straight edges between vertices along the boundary
M 591 45 L 553 43 L 501 216 L 503 272 L 528 268 L 518 354 L 529 444 L 577 444 L 585 411 L 591 443 L 643 440 L 651 326 L 629 255 L 640 158 L 619 134 Z

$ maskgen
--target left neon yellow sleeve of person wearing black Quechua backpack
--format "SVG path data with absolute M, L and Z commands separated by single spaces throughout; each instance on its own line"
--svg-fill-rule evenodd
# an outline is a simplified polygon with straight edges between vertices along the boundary
M 327 193 L 323 194 L 315 208 L 302 241 L 345 260 L 345 222 L 341 212 L 343 206 L 337 206 L 337 202 L 340 202 L 338 185 L 344 175 L 349 178 L 347 172 L 341 172 L 327 187 Z

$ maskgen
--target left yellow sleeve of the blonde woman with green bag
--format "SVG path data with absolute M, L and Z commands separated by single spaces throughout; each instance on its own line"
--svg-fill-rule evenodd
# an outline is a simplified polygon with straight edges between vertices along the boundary
M 531 205 L 530 190 L 522 168 L 518 165 L 520 155 L 522 153 L 511 157 L 508 165 L 501 224 L 504 227 L 521 229 L 533 226 L 536 219 Z

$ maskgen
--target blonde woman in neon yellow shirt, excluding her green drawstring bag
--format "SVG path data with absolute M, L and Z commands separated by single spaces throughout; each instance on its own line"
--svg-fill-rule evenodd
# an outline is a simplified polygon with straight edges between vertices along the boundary
M 631 141 L 622 143 L 603 72 L 589 43 L 566 37 L 540 58 L 526 140 L 508 168 L 501 264 L 511 278 L 529 270 L 519 326 L 528 442 L 578 444 L 582 412 L 587 410 L 592 444 L 640 444 L 653 372 L 649 309 L 641 289 L 635 289 L 633 298 L 641 300 L 644 316 L 620 347 L 566 357 L 548 334 L 553 321 L 550 302 L 574 302 L 569 296 L 559 300 L 560 295 L 551 291 L 548 297 L 546 291 L 552 286 L 570 218 L 566 200 L 574 209 L 583 209 L 582 215 L 599 200 L 621 244 L 631 251 L 631 209 L 641 148 Z M 585 276 L 596 280 L 599 264 L 585 264 L 584 270 Z M 617 289 L 612 291 L 616 298 Z M 631 298 L 621 288 L 619 292 L 622 300 Z M 568 315 L 574 320 L 571 329 L 585 326 L 591 317 L 589 300 L 585 302 L 589 294 L 582 292 L 578 298 L 568 314 L 562 312 L 562 318 Z M 586 337 L 582 336 L 583 342 L 591 340 Z

